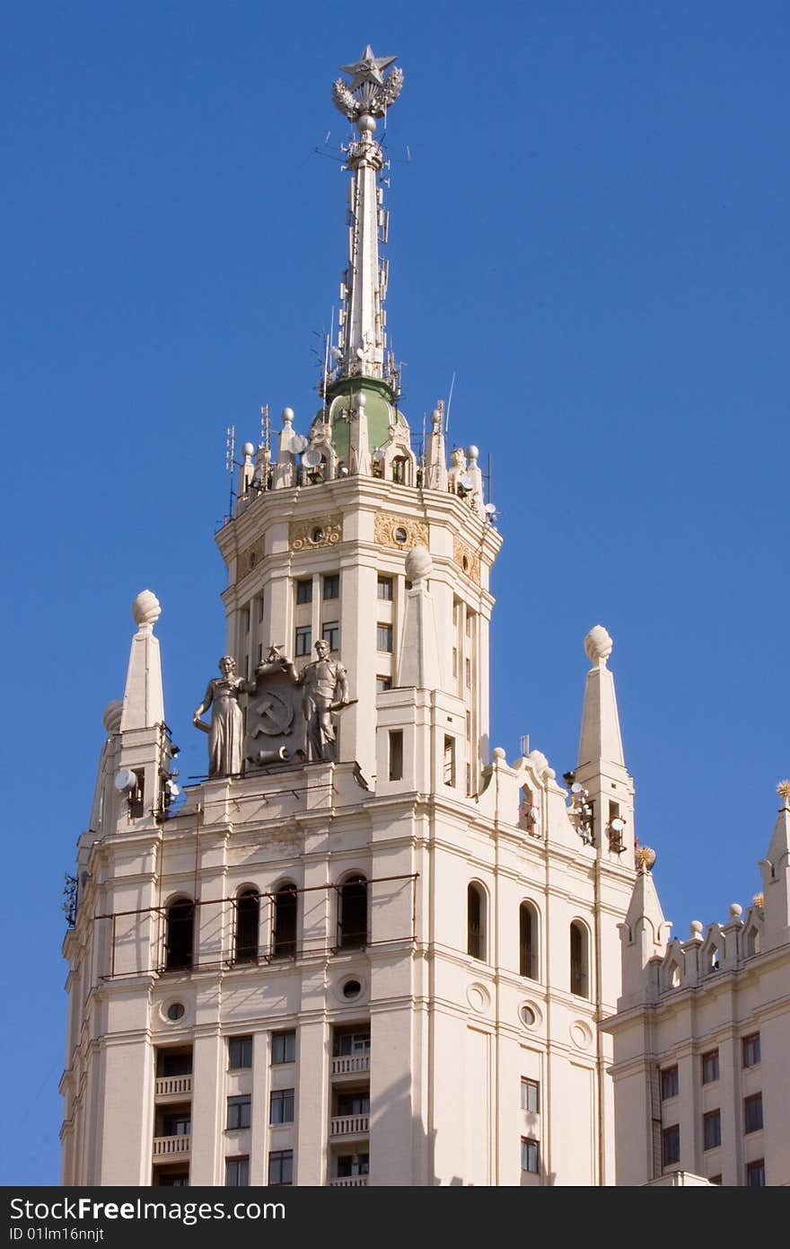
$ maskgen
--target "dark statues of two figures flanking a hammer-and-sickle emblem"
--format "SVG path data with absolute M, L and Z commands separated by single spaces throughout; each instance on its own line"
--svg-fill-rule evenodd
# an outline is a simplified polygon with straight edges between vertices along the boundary
M 297 672 L 292 659 L 272 647 L 255 681 L 236 676 L 231 654 L 220 659 L 220 677 L 208 682 L 192 723 L 208 733 L 208 776 L 238 776 L 245 761 L 253 766 L 300 754 L 321 762 L 336 758 L 333 716 L 349 706 L 348 677 L 329 643 L 316 642 L 316 659 Z M 301 693 L 301 698 L 300 698 Z M 248 694 L 247 733 L 241 696 Z M 211 709 L 211 723 L 201 717 Z M 260 749 L 263 734 L 270 749 Z

